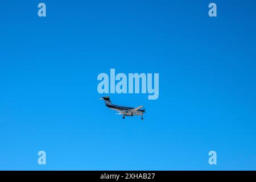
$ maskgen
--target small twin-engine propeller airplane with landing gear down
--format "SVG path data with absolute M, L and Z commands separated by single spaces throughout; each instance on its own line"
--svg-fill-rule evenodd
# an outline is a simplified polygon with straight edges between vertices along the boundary
M 123 119 L 125 119 L 125 116 L 133 116 L 133 115 L 141 115 L 141 119 L 143 119 L 143 114 L 145 113 L 145 109 L 141 108 L 143 106 L 138 106 L 138 107 L 126 107 L 126 106 L 118 106 L 118 105 L 114 105 L 112 104 L 112 102 L 109 100 L 109 96 L 106 97 L 101 97 L 101 100 L 105 101 L 105 104 L 107 107 L 109 107 L 109 109 L 113 109 L 118 111 L 119 115 L 123 115 Z

